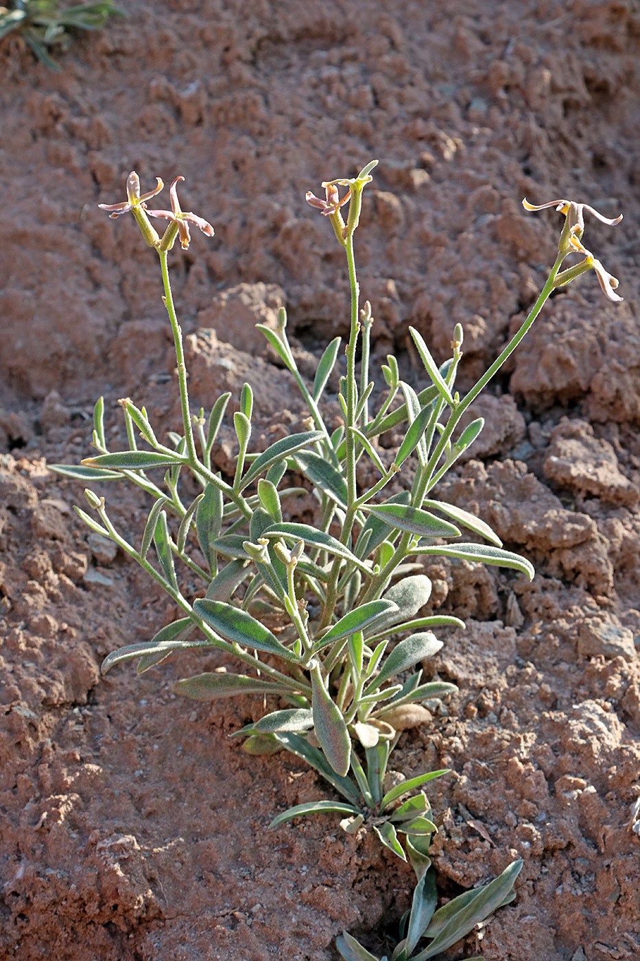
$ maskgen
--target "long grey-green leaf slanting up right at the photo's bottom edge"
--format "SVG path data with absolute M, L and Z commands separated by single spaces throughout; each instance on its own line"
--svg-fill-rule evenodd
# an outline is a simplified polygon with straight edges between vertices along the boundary
M 476 924 L 493 914 L 496 908 L 508 903 L 522 865 L 522 859 L 514 861 L 490 884 L 474 891 L 466 891 L 439 908 L 425 931 L 426 937 L 433 938 L 431 945 L 416 954 L 412 961 L 427 961 L 428 958 L 451 948 L 456 941 L 466 937 Z

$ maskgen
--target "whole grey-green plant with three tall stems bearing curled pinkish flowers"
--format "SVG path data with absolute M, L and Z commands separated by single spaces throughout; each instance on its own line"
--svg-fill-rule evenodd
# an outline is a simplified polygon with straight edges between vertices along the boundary
M 184 249 L 189 245 L 189 225 L 209 236 L 213 228 L 202 217 L 181 209 L 177 185 L 184 178 L 171 185 L 171 209 L 152 210 L 147 209 L 147 201 L 162 189 L 160 178 L 154 189 L 140 194 L 138 177 L 132 173 L 127 201 L 100 207 L 110 211 L 111 217 L 133 213 L 146 243 L 158 253 L 162 301 L 176 350 L 183 430 L 171 432 L 163 443 L 145 407 L 126 398 L 119 403 L 129 450 L 111 452 L 101 398 L 94 409 L 92 442 L 97 454 L 80 466 L 54 469 L 90 482 L 126 480 L 149 495 L 152 506 L 139 544 L 115 529 L 105 498 L 91 489 L 85 491 L 86 500 L 97 519 L 76 509 L 91 530 L 111 538 L 160 583 L 181 612 L 178 620 L 151 640 L 110 653 L 103 673 L 135 660 L 140 674 L 187 651 L 217 649 L 233 654 L 236 673 L 181 678 L 174 690 L 203 701 L 245 694 L 264 698 L 268 704 L 264 716 L 236 732 L 245 738 L 247 752 L 292 752 L 333 789 L 324 801 L 299 804 L 278 814 L 273 826 L 308 814 L 338 815 L 346 831 L 371 830 L 382 845 L 403 860 L 408 858 L 417 886 L 392 958 L 425 961 L 514 897 L 513 884 L 522 862 L 513 862 L 494 881 L 436 911 L 429 858 L 436 826 L 421 788 L 448 772 L 427 771 L 399 781 L 387 775 L 401 732 L 430 718 L 421 704 L 456 690 L 454 684 L 422 677 L 424 663 L 442 647 L 433 630 L 464 624 L 450 615 L 421 613 L 431 595 L 431 581 L 421 572 L 421 561 L 445 555 L 533 577 L 529 560 L 506 551 L 497 534 L 479 518 L 434 498 L 433 488 L 482 430 L 481 418 L 461 430 L 462 416 L 528 332 L 554 288 L 593 268 L 607 297 L 620 298 L 614 292 L 618 282 L 582 246 L 582 210 L 596 211 L 565 200 L 541 207 L 525 201 L 528 209 L 556 207 L 564 214 L 565 224 L 549 278 L 518 333 L 471 390 L 460 396 L 455 376 L 462 357 L 461 326 L 455 325 L 452 356 L 441 365 L 431 357 L 422 335 L 410 328 L 429 386 L 416 393 L 401 379 L 396 358 L 389 356 L 382 366 L 386 390 L 374 413 L 369 371 L 373 317 L 368 302 L 360 308 L 354 235 L 363 192 L 377 162 L 367 163 L 357 177 L 324 183 L 324 199 L 307 194 L 308 203 L 330 219 L 345 251 L 351 282 L 346 374 L 338 394 L 342 424 L 337 429 L 330 431 L 327 426 L 323 395 L 342 346 L 340 337 L 320 357 L 310 384 L 297 367 L 281 310 L 276 330 L 262 325 L 258 329 L 297 382 L 308 406 L 308 429 L 277 440 L 265 451 L 252 452 L 253 389 L 247 383 L 233 415 L 237 439 L 233 477 L 223 477 L 215 469 L 212 449 L 231 395 L 222 394 L 207 414 L 191 410 L 168 269 L 175 240 L 180 237 Z M 162 236 L 150 217 L 168 220 Z M 560 272 L 564 259 L 573 253 L 583 259 Z M 402 442 L 389 462 L 379 438 L 402 425 Z M 387 485 L 409 458 L 412 482 L 401 493 L 387 496 Z M 364 473 L 374 478 L 365 489 L 357 483 L 360 459 L 369 462 L 370 469 Z M 190 475 L 187 489 L 193 489 L 193 481 L 199 488 L 190 503 L 183 499 L 185 474 Z M 317 502 L 315 523 L 291 520 L 296 517 L 296 498 L 309 489 Z M 469 532 L 475 539 L 467 539 Z M 152 545 L 155 559 L 151 559 Z M 184 575 L 189 580 L 196 575 L 202 583 L 196 600 L 187 600 L 183 594 Z M 423 937 L 431 938 L 430 945 L 414 953 Z M 346 932 L 337 944 L 347 961 L 374 958 Z

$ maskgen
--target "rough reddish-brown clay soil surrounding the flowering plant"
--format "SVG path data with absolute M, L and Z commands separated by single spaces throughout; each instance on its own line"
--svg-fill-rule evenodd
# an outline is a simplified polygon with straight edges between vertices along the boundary
M 594 275 L 554 296 L 478 406 L 475 459 L 441 489 L 537 576 L 427 568 L 431 607 L 468 628 L 425 668 L 460 693 L 394 756 L 406 776 L 453 768 L 431 790 L 444 897 L 525 859 L 517 900 L 447 957 L 637 959 L 636 0 L 125 6 L 60 75 L 0 45 L 0 957 L 329 961 L 343 927 L 384 949 L 408 905 L 412 875 L 370 838 L 330 819 L 266 830 L 325 789 L 228 739 L 261 702 L 171 694 L 224 657 L 100 679 L 107 653 L 174 612 L 45 466 L 86 455 L 101 393 L 113 447 L 118 397 L 175 422 L 153 255 L 133 220 L 97 209 L 124 199 L 130 170 L 143 189 L 184 175 L 184 209 L 214 224 L 172 254 L 193 405 L 253 382 L 266 438 L 301 407 L 254 323 L 285 303 L 311 374 L 347 329 L 343 257 L 305 191 L 376 157 L 359 278 L 375 363 L 395 350 L 416 388 L 409 323 L 439 360 L 463 323 L 468 384 L 533 303 L 561 218 L 525 214 L 523 196 L 624 210 L 585 234 L 624 304 Z M 136 535 L 144 500 L 101 493 Z

